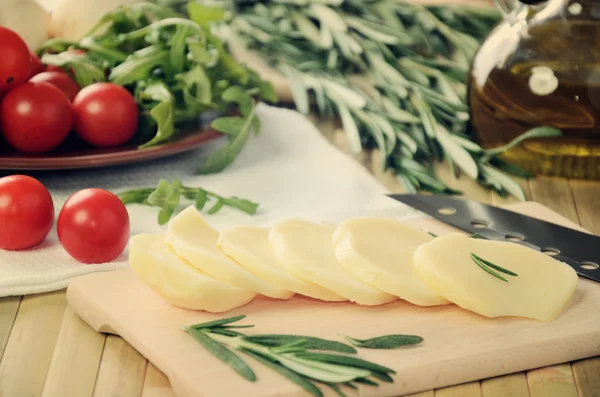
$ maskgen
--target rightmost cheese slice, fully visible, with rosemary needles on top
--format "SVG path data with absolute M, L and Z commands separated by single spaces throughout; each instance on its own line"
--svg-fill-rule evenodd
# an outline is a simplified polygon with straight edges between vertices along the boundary
M 470 254 L 512 271 L 478 266 Z M 519 316 L 550 321 L 575 293 L 577 273 L 566 264 L 531 248 L 453 233 L 437 237 L 415 252 L 415 268 L 436 292 L 458 306 L 486 317 Z

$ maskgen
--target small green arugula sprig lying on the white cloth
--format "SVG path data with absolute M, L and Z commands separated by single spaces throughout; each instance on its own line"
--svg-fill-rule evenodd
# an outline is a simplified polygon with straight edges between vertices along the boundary
M 183 186 L 178 179 L 172 183 L 163 179 L 156 188 L 127 190 L 119 193 L 118 196 L 125 205 L 143 204 L 160 208 L 158 212 L 160 225 L 166 224 L 171 219 L 179 207 L 182 197 L 193 201 L 198 210 L 202 210 L 209 202 L 212 202 L 207 211 L 209 215 L 217 213 L 224 206 L 238 209 L 248 215 L 256 214 L 258 209 L 258 203 L 235 196 L 223 197 L 201 187 Z

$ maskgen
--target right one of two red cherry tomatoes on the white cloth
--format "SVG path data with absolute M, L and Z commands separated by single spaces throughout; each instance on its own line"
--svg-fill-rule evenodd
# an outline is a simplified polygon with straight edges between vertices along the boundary
M 81 190 L 65 202 L 58 216 L 58 239 L 83 263 L 116 259 L 129 239 L 129 215 L 123 202 L 102 189 Z

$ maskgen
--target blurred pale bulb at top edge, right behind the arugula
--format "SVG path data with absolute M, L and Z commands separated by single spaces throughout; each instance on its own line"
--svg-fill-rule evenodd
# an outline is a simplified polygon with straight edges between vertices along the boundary
M 107 12 L 139 0 L 56 0 L 50 21 L 50 36 L 78 41 Z

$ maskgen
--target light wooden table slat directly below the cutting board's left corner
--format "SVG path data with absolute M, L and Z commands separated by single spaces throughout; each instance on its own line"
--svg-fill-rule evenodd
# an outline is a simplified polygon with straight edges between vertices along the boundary
M 67 307 L 42 397 L 91 397 L 104 339 Z

